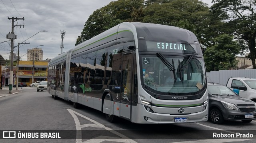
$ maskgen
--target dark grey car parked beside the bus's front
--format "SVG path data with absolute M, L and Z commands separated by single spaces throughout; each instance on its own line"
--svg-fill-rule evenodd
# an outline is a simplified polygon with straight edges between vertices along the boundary
M 251 122 L 256 119 L 256 103 L 238 96 L 227 86 L 208 83 L 209 116 L 212 123 L 220 124 L 224 120 L 242 120 Z

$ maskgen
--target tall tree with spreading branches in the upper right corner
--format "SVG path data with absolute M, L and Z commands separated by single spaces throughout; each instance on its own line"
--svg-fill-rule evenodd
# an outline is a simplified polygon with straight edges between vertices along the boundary
M 228 31 L 248 43 L 252 67 L 256 69 L 256 2 L 255 0 L 213 0 L 213 13 L 221 18 Z

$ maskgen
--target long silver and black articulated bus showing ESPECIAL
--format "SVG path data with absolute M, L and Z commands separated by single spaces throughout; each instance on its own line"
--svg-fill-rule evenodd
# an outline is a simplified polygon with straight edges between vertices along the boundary
M 124 22 L 54 57 L 54 99 L 134 123 L 208 119 L 206 69 L 198 39 L 179 27 Z

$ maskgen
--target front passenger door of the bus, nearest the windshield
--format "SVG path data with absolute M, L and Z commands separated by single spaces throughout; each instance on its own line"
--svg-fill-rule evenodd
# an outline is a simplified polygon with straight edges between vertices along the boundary
M 123 53 L 122 58 L 122 84 L 120 97 L 120 117 L 131 120 L 132 101 L 132 67 L 134 51 Z

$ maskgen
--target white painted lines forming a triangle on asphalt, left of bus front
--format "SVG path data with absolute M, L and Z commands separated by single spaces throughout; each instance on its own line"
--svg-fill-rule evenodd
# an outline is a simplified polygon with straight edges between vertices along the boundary
M 91 119 L 91 118 L 88 118 L 88 117 L 86 117 L 86 116 L 84 116 L 84 115 L 82 115 L 82 114 L 80 114 L 80 113 L 78 113 L 78 112 L 75 112 L 74 110 L 71 110 L 71 109 L 67 109 L 68 110 L 68 112 L 72 115 L 72 117 L 74 118 L 74 121 L 75 121 L 75 123 L 76 123 L 76 130 L 82 130 L 81 129 L 81 126 L 82 127 L 84 127 L 85 125 L 80 125 L 80 121 L 79 121 L 79 119 L 78 119 L 78 117 L 76 116 L 76 115 L 78 115 L 78 116 L 80 116 L 80 117 L 82 117 L 82 118 L 84 118 L 84 119 L 87 119 L 87 120 L 89 120 L 89 121 L 91 121 L 91 122 L 93 122 L 93 123 L 95 123 L 96 125 L 98 125 L 99 127 L 101 127 L 101 128 L 104 128 L 104 129 L 106 129 L 106 130 L 108 130 L 108 131 L 110 131 L 111 133 L 114 133 L 115 135 L 118 135 L 119 137 L 121 137 L 122 139 L 118 139 L 118 140 L 116 140 L 116 139 L 111 139 L 111 141 L 117 141 L 117 142 L 123 142 L 123 143 L 137 143 L 136 141 L 134 141 L 134 140 L 132 140 L 132 139 L 129 139 L 128 137 L 126 137 L 125 135 L 123 135 L 123 134 L 121 134 L 121 133 L 118 133 L 117 131 L 114 131 L 113 129 L 111 129 L 110 127 L 106 127 L 106 126 L 104 126 L 104 125 L 102 125 L 101 123 L 99 123 L 99 122 L 97 122 L 97 121 L 95 121 L 95 120 L 93 120 L 93 119 Z M 75 115 L 76 114 L 76 115 Z M 97 126 L 97 127 L 98 127 Z M 77 137 L 77 139 L 76 139 L 76 143 L 82 143 L 82 133 L 81 134 L 79 134 L 79 135 L 81 135 L 81 137 L 78 139 L 78 135 L 76 135 L 76 137 Z M 105 139 L 106 140 L 106 139 Z M 104 140 L 104 141 L 105 141 Z M 109 140 L 109 139 L 108 139 Z M 94 139 L 90 139 L 90 140 L 88 140 L 88 141 L 90 141 L 89 143 L 93 143 L 94 142 Z M 99 140 L 99 139 L 96 139 L 95 140 L 95 142 L 97 142 L 97 143 L 100 143 L 100 142 L 102 141 L 102 140 Z M 84 143 L 84 142 L 83 142 Z

